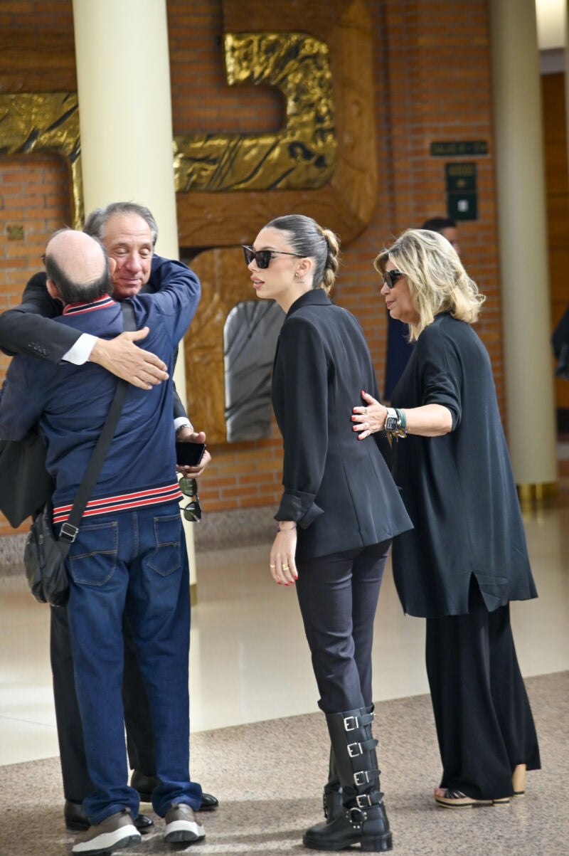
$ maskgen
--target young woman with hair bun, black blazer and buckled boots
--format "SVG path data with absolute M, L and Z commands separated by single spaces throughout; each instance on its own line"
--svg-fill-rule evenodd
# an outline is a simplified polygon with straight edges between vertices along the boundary
M 338 270 L 333 232 L 278 217 L 244 247 L 258 297 L 286 312 L 272 401 L 284 447 L 283 494 L 270 573 L 294 585 L 331 741 L 327 823 L 304 843 L 391 849 L 371 736 L 371 643 L 391 538 L 410 528 L 376 438 L 354 443 L 353 395 L 376 378 L 356 319 L 329 300 Z

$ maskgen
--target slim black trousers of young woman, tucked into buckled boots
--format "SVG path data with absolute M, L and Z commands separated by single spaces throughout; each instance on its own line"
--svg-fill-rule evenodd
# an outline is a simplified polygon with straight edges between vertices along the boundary
M 371 704 L 371 645 L 391 541 L 297 560 L 296 593 L 324 713 Z

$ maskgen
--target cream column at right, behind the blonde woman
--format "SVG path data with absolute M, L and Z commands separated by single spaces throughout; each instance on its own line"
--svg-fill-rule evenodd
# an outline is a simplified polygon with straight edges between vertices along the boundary
M 535 0 L 492 0 L 507 438 L 520 496 L 557 480 L 548 242 Z

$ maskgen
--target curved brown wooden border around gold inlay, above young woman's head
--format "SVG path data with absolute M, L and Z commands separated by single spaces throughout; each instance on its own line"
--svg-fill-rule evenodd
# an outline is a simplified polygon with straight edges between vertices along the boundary
M 222 0 L 222 11 L 223 28 L 232 36 L 275 33 L 278 39 L 287 39 L 302 21 L 307 33 L 327 45 L 334 94 L 335 169 L 322 187 L 281 188 L 272 193 L 269 184 L 232 193 L 178 193 L 180 246 L 251 243 L 276 214 L 294 212 L 334 229 L 346 246 L 370 223 L 377 204 L 373 28 L 366 3 Z M 289 74 L 295 74 L 293 65 Z

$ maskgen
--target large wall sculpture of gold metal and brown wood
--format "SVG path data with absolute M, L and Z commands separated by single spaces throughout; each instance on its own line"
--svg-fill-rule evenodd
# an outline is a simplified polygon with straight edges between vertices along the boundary
M 366 4 L 222 0 L 222 11 L 228 82 L 277 86 L 287 99 L 287 121 L 272 135 L 175 137 L 180 246 L 249 243 L 272 217 L 294 212 L 335 229 L 346 246 L 370 222 L 377 199 L 373 33 Z M 298 33 L 300 12 L 307 34 Z M 57 47 L 48 47 L 51 56 Z M 28 56 L 29 46 L 24 52 Z M 69 52 L 65 57 L 65 80 L 71 80 L 73 58 Z M 42 86 L 34 74 L 38 89 L 52 80 L 48 75 Z M 18 86 L 23 88 L 21 81 Z M 68 159 L 74 225 L 80 228 L 76 94 L 0 94 L 0 118 L 0 152 L 49 151 Z M 210 163 L 199 166 L 200 147 Z M 291 151 L 286 165 L 282 155 Z M 306 157 L 296 157 L 299 152 Z M 186 342 L 187 395 L 193 421 L 206 428 L 210 442 L 226 439 L 222 326 L 234 303 L 252 296 L 242 265 L 241 251 L 234 249 L 202 253 L 193 264 L 204 288 Z

